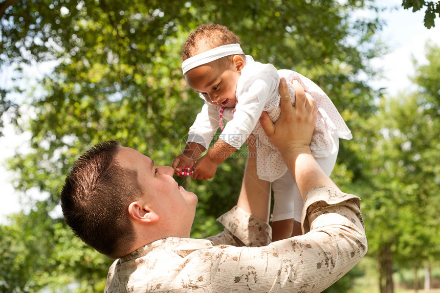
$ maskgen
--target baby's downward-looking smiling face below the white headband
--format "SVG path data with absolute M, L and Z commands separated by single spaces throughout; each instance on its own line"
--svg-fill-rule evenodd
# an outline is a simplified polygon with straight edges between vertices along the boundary
M 195 67 L 185 74 L 188 85 L 205 100 L 218 107 L 235 106 L 235 90 L 240 71 L 231 62 L 230 66 L 213 66 L 212 63 Z

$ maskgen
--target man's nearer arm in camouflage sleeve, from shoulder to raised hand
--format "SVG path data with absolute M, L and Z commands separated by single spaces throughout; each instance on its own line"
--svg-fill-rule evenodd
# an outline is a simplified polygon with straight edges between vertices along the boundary
M 280 89 L 280 119 L 274 124 L 263 116 L 260 121 L 305 198 L 302 219 L 307 233 L 258 248 L 215 247 L 222 250 L 212 252 L 222 256 L 213 257 L 216 291 L 318 293 L 340 279 L 367 251 L 360 198 L 341 192 L 311 155 L 316 121 L 313 99 L 296 85 L 297 100 L 292 106 L 283 98 L 284 86 L 285 82 Z

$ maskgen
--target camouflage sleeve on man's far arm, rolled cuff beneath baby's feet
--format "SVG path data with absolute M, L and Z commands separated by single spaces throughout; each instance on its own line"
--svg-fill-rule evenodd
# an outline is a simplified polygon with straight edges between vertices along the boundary
M 265 246 L 271 242 L 272 229 L 269 224 L 252 216 L 237 206 L 217 219 L 225 226 L 223 232 L 210 236 L 214 245 Z

